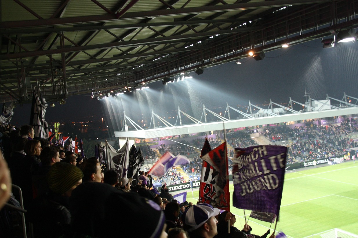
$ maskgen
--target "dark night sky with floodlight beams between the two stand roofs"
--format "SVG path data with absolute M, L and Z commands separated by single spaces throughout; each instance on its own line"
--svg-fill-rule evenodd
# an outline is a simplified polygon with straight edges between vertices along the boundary
M 310 41 L 267 52 L 260 61 L 250 57 L 241 59 L 241 65 L 233 61 L 205 68 L 202 75 L 190 73 L 193 79 L 184 82 L 151 83 L 147 92 L 124 94 L 120 100 L 112 97 L 99 101 L 91 95 L 69 96 L 65 105 L 57 102 L 55 107 L 48 107 L 45 119 L 48 122 L 59 119 L 79 122 L 84 117 L 96 115 L 97 120 L 105 117 L 109 121 L 115 114 L 121 114 L 117 119 L 122 119 L 125 110 L 130 118 L 139 120 L 141 114 L 150 117 L 152 108 L 163 115 L 168 110 L 177 110 L 178 106 L 200 119 L 202 104 L 207 108 L 226 107 L 226 103 L 248 105 L 248 100 L 252 104 L 262 104 L 271 98 L 287 105 L 290 96 L 304 103 L 305 88 L 317 100 L 325 99 L 326 94 L 342 99 L 343 92 L 358 97 L 357 53 L 357 42 L 336 43 L 334 48 L 323 49 L 320 40 Z M 18 105 L 11 123 L 28 124 L 30 108 L 30 104 Z

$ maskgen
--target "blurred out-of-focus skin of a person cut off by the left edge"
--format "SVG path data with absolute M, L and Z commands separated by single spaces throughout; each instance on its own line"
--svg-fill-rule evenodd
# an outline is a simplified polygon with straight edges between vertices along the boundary
M 0 151 L 0 209 L 9 200 L 11 193 L 11 177 L 8 164 Z

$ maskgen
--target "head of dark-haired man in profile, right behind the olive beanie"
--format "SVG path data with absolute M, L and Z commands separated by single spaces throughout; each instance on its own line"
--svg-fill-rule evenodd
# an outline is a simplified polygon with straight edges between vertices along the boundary
M 97 182 L 101 183 L 102 170 L 101 163 L 96 158 L 89 158 L 84 161 L 79 168 L 83 172 L 83 183 Z

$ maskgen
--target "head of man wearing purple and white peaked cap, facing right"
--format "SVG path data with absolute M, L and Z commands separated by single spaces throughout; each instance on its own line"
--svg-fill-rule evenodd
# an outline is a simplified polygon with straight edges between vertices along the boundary
M 182 215 L 183 228 L 190 238 L 212 238 L 218 234 L 216 215 L 220 210 L 207 203 L 190 206 Z

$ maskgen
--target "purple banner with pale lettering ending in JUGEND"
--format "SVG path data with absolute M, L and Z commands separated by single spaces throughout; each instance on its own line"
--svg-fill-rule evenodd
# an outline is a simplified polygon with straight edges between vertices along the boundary
M 258 145 L 235 148 L 233 205 L 241 209 L 280 212 L 287 147 Z

